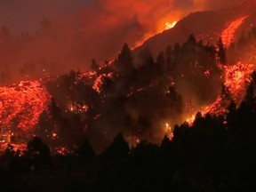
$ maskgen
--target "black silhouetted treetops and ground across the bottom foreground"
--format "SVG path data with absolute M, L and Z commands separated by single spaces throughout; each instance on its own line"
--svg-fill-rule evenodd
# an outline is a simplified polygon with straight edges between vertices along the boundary
M 252 76 L 253 78 L 253 76 Z M 39 138 L 24 154 L 0 158 L 1 191 L 249 191 L 256 187 L 255 78 L 240 107 L 225 116 L 196 115 L 174 138 L 129 148 L 122 134 L 100 155 L 88 140 L 69 155 L 52 155 Z M 99 138 L 100 140 L 100 138 Z

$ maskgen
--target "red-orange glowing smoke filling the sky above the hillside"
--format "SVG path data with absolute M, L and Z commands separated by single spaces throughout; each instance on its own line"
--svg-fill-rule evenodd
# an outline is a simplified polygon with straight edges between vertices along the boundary
M 148 0 L 26 0 L 26 4 L 4 1 L 0 4 L 0 25 L 7 26 L 7 30 L 2 28 L 0 36 L 1 83 L 45 73 L 59 75 L 70 69 L 86 70 L 92 59 L 99 63 L 112 60 L 124 43 L 134 47 L 162 32 L 166 22 L 180 20 L 189 12 L 232 3 L 231 0 L 150 3 Z M 19 31 L 24 32 L 17 35 Z

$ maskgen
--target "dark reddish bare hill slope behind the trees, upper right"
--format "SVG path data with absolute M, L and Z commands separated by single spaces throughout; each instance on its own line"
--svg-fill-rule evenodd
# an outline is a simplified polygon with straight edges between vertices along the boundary
M 255 1 L 242 1 L 234 6 L 217 11 L 193 12 L 180 20 L 174 28 L 150 37 L 146 42 L 133 50 L 133 55 L 136 58 L 141 50 L 149 48 L 154 57 L 156 57 L 168 45 L 186 41 L 191 33 L 196 36 L 197 40 L 202 39 L 204 43 L 215 44 L 221 32 L 232 21 L 237 20 L 241 16 L 248 15 L 244 23 L 235 31 L 234 41 L 236 41 L 243 32 L 246 33 L 255 26 L 256 11 L 254 8 Z

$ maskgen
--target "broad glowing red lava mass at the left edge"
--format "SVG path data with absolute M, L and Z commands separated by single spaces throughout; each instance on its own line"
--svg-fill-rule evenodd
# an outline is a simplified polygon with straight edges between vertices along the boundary
M 0 87 L 0 142 L 12 143 L 11 138 L 17 132 L 32 131 L 39 116 L 47 110 L 49 101 L 50 94 L 37 80 Z

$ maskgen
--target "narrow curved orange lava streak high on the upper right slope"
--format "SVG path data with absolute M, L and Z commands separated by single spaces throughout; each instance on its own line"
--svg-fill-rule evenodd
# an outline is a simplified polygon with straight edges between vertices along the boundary
M 226 28 L 222 33 L 221 33 L 221 38 L 223 41 L 223 44 L 225 47 L 228 47 L 232 40 L 234 39 L 235 33 L 237 28 L 239 28 L 243 23 L 244 20 L 249 17 L 249 15 L 242 16 L 236 20 L 233 20 L 229 25 L 228 28 Z

